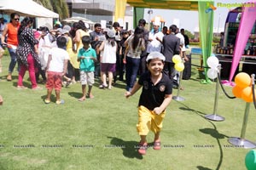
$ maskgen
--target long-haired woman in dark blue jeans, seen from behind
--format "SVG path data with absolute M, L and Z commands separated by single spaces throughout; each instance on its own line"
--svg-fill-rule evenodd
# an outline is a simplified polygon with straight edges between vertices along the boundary
M 137 27 L 134 34 L 127 39 L 125 44 L 127 44 L 128 54 L 125 58 L 126 60 L 126 90 L 128 92 L 133 88 L 136 79 L 137 71 L 140 67 L 140 60 L 142 51 L 145 50 L 145 41 L 143 38 L 143 27 Z

